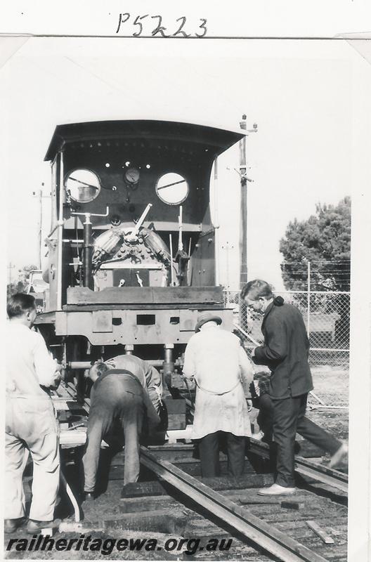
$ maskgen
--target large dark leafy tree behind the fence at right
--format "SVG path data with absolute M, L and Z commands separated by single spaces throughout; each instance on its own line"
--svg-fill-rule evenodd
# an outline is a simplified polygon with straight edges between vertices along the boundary
M 316 205 L 306 221 L 290 222 L 280 240 L 282 278 L 288 290 L 349 291 L 351 276 L 351 198 L 337 205 Z

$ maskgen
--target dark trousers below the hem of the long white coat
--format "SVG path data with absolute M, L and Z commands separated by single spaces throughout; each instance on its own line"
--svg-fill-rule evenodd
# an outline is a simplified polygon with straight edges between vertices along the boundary
M 202 437 L 199 443 L 201 474 L 207 476 L 219 476 L 219 438 L 223 431 L 209 433 Z M 228 474 L 230 476 L 241 476 L 245 466 L 245 437 L 235 436 L 233 433 L 225 433 L 227 441 Z

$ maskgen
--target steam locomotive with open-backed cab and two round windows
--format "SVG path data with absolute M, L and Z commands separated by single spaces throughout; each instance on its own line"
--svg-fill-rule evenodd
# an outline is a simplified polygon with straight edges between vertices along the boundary
M 71 370 L 134 351 L 176 386 L 198 311 L 232 329 L 216 286 L 209 180 L 214 159 L 244 135 L 151 120 L 56 127 L 37 324 Z

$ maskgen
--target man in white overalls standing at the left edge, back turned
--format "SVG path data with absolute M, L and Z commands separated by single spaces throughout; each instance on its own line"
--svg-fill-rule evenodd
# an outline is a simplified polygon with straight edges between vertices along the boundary
M 5 532 L 25 516 L 22 474 L 29 451 L 34 462 L 32 503 L 27 532 L 53 523 L 59 485 L 58 424 L 48 388 L 60 382 L 58 365 L 44 338 L 32 331 L 34 297 L 14 294 L 8 301 L 6 327 Z

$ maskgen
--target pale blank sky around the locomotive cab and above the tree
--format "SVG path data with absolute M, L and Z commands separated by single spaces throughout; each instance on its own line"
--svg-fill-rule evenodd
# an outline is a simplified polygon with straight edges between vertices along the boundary
M 43 160 L 57 124 L 148 118 L 237 129 L 245 113 L 247 129 L 258 125 L 247 137 L 248 277 L 276 289 L 289 221 L 351 194 L 352 67 L 359 55 L 346 41 L 0 41 L 7 58 L 0 70 L 7 265 L 15 266 L 8 276 L 37 263 L 39 202 L 32 192 L 40 188 L 43 239 L 48 234 L 51 174 Z M 239 278 L 238 165 L 237 145 L 219 157 L 220 282 L 230 289 Z

